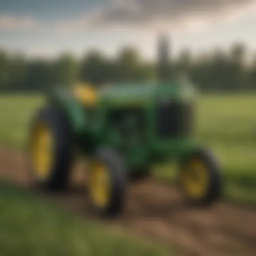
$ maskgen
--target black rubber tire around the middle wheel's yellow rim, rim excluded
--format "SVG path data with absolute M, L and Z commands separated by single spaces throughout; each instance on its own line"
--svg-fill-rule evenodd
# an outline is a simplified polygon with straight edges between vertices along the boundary
M 99 208 L 94 205 L 90 196 L 91 204 L 102 216 L 111 217 L 118 215 L 123 208 L 126 190 L 126 171 L 122 157 L 111 148 L 102 147 L 94 153 L 92 158 L 103 162 L 107 166 L 110 177 L 110 196 L 105 207 Z

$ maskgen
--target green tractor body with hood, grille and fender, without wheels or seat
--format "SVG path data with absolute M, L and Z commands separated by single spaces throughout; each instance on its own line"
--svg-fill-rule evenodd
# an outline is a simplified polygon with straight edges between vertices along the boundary
M 62 89 L 48 97 L 65 115 L 75 146 L 85 155 L 111 147 L 127 170 L 140 171 L 193 150 L 194 89 L 188 82 L 118 84 L 95 94 L 90 104 Z

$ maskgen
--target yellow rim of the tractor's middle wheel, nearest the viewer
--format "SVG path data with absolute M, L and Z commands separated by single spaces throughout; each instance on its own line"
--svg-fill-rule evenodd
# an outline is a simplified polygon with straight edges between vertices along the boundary
M 95 162 L 90 171 L 90 193 L 93 203 L 103 208 L 109 202 L 110 177 L 107 167 L 101 162 Z

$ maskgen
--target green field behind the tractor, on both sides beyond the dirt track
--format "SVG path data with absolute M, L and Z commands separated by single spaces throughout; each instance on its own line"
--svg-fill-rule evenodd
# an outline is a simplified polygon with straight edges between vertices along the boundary
M 31 114 L 42 104 L 40 96 L 0 98 L 0 145 L 22 148 Z M 210 147 L 223 167 L 225 197 L 256 202 L 256 95 L 210 95 L 198 99 L 196 137 Z M 171 179 L 169 166 L 155 175 Z

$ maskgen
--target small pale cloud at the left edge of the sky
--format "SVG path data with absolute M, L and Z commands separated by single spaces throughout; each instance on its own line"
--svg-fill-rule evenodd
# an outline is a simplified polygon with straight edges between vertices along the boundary
M 34 27 L 35 21 L 29 16 L 16 17 L 0 14 L 0 30 L 23 30 Z

